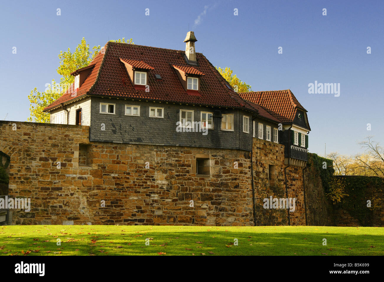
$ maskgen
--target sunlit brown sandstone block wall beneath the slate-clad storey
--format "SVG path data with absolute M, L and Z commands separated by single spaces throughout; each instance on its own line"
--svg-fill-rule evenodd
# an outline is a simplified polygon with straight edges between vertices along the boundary
M 89 142 L 89 127 L 76 125 L 0 121 L 0 136 L 11 157 L 9 194 L 31 198 L 31 211 L 14 211 L 13 224 L 253 225 L 250 152 Z M 285 198 L 284 147 L 253 140 L 256 224 L 287 224 L 285 209 L 263 209 L 262 201 Z M 79 144 L 89 146 L 87 167 L 78 165 Z M 210 158 L 209 176 L 195 174 L 198 157 Z M 291 224 L 303 224 L 301 170 L 290 169 L 288 197 L 298 199 Z

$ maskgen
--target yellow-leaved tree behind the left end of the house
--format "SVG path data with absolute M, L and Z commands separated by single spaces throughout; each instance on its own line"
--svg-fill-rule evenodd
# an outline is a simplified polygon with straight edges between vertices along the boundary
M 125 42 L 124 37 L 122 39 L 110 41 L 134 44 L 132 38 Z M 52 80 L 51 84 L 45 84 L 46 89 L 43 92 L 37 91 L 37 87 L 31 90 L 28 95 L 28 100 L 30 101 L 29 122 L 50 122 L 50 114 L 43 112 L 43 109 L 63 95 L 65 90 L 74 82 L 74 76 L 72 76 L 71 73 L 76 71 L 76 69 L 88 66 L 100 52 L 100 45 L 94 46 L 92 50 L 93 51 L 89 50 L 89 44 L 86 43 L 86 40 L 83 37 L 73 53 L 71 53 L 70 48 L 65 52 L 60 51 L 60 54 L 58 55 L 60 65 L 56 69 L 57 73 L 61 75 L 60 83 L 58 84 Z

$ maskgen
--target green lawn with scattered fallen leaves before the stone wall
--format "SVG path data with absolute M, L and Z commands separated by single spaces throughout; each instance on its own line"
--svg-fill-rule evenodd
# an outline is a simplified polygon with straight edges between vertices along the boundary
M 146 238 L 149 238 L 147 246 Z M 327 245 L 323 246 L 323 238 Z M 56 244 L 61 240 L 61 246 Z M 238 240 L 238 246 L 234 245 Z M 160 253 L 160 254 L 159 254 Z M 165 254 L 162 254 L 165 253 Z M 0 226 L 0 255 L 384 255 L 384 228 Z

